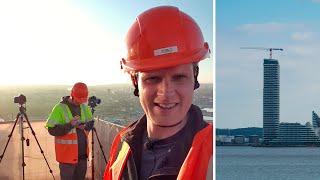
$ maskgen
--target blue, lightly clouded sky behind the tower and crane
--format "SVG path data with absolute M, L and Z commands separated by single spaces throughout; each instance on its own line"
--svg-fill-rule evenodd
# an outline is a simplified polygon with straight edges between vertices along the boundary
M 320 1 L 216 1 L 216 125 L 262 127 L 263 59 L 283 48 L 280 122 L 311 121 L 320 113 Z

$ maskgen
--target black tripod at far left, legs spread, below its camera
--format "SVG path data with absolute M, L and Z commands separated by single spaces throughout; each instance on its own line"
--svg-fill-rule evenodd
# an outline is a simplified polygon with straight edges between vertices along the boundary
M 46 163 L 47 163 L 47 166 L 48 166 L 48 168 L 49 168 L 49 170 L 50 170 L 50 173 L 51 173 L 53 179 L 55 179 L 55 178 L 54 178 L 54 175 L 53 175 L 53 172 L 52 172 L 52 170 L 51 170 L 51 168 L 50 168 L 50 166 L 49 166 L 49 163 L 48 163 L 48 161 L 47 161 L 47 158 L 45 157 L 45 155 L 44 155 L 44 153 L 43 153 L 43 150 L 42 150 L 42 148 L 41 148 L 41 146 L 40 146 L 40 144 L 39 144 L 39 141 L 38 141 L 38 139 L 37 139 L 37 137 L 36 137 L 36 133 L 34 132 L 32 126 L 31 126 L 31 124 L 30 124 L 30 122 L 29 122 L 28 116 L 27 116 L 27 114 L 26 114 L 26 108 L 23 106 L 22 103 L 21 103 L 21 104 L 19 103 L 19 105 L 20 105 L 20 107 L 19 107 L 19 113 L 17 114 L 17 117 L 16 117 L 15 123 L 14 123 L 14 125 L 13 125 L 13 127 L 12 127 L 12 130 L 11 130 L 10 134 L 8 135 L 9 139 L 8 139 L 8 141 L 7 141 L 7 143 L 6 143 L 6 146 L 5 146 L 4 150 L 3 150 L 3 153 L 2 153 L 2 155 L 0 156 L 0 163 L 1 163 L 2 159 L 3 159 L 3 157 L 4 157 L 4 153 L 6 152 L 6 149 L 7 149 L 7 147 L 8 147 L 9 141 L 10 141 L 10 139 L 11 139 L 11 137 L 12 137 L 14 128 L 16 127 L 17 122 L 19 121 L 19 125 L 20 125 L 20 135 L 21 135 L 22 175 L 23 175 L 23 180 L 25 179 L 25 177 L 24 177 L 24 167 L 26 166 L 26 163 L 24 162 L 24 140 L 25 140 L 25 138 L 24 138 L 24 136 L 23 136 L 23 120 L 24 120 L 24 118 L 25 118 L 26 122 L 28 123 L 29 128 L 31 129 L 31 132 L 32 132 L 35 140 L 37 141 L 37 144 L 38 144 L 38 146 L 39 146 L 39 149 L 41 150 L 41 154 L 42 154 L 43 158 L 45 159 L 45 161 L 46 161 Z M 27 142 L 27 144 L 28 144 L 28 142 Z

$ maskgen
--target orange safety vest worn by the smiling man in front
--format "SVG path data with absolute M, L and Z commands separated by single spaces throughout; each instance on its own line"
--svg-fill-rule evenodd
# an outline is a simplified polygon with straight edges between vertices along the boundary
M 122 176 L 128 157 L 131 154 L 130 146 L 126 142 L 123 142 L 118 157 L 116 158 L 117 148 L 125 130 L 126 128 L 113 140 L 110 149 L 110 159 L 104 172 L 104 180 L 119 180 Z M 206 179 L 209 160 L 213 153 L 212 143 L 213 126 L 209 124 L 193 138 L 188 155 L 180 168 L 177 177 L 178 180 Z

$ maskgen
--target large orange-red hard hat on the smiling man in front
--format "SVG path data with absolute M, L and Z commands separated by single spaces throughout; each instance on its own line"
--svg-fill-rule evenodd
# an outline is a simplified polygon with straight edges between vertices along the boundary
M 150 71 L 198 62 L 209 57 L 197 23 L 173 6 L 159 6 L 140 14 L 126 36 L 127 72 Z

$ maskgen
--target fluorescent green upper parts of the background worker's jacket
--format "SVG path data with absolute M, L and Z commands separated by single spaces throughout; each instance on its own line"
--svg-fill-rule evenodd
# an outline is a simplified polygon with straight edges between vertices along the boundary
M 87 121 L 93 120 L 92 113 L 90 111 L 89 106 L 86 104 L 80 105 L 81 115 L 80 115 L 80 122 L 85 123 Z M 73 119 L 71 110 L 69 109 L 68 105 L 59 103 L 54 106 L 52 112 L 50 113 L 47 122 L 46 128 L 52 128 L 57 124 L 67 124 Z

